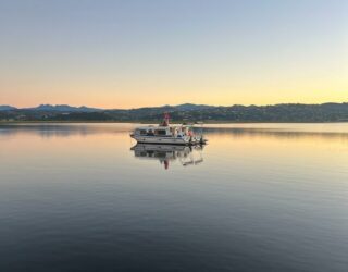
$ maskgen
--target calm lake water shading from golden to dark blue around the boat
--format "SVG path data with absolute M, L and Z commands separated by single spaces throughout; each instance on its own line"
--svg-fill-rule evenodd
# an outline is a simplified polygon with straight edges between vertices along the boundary
M 348 271 L 348 124 L 0 125 L 0 271 Z

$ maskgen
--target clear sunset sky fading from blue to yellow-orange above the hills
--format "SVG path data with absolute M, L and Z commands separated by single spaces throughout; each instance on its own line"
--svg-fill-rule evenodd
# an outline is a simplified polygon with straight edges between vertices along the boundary
M 0 104 L 348 102 L 345 0 L 0 0 Z

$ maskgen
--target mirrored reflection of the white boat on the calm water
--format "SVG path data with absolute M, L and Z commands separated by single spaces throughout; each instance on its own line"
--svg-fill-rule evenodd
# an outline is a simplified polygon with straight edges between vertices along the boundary
M 170 162 L 179 161 L 183 166 L 197 165 L 203 162 L 202 146 L 137 144 L 132 147 L 136 158 L 158 160 L 169 169 Z

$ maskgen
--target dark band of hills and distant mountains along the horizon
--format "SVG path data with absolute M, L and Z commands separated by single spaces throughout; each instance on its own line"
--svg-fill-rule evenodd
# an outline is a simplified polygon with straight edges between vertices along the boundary
M 0 106 L 0 121 L 158 122 L 163 112 L 170 112 L 174 122 L 348 122 L 348 103 L 229 107 L 184 103 L 128 110 L 67 104 L 22 109 Z

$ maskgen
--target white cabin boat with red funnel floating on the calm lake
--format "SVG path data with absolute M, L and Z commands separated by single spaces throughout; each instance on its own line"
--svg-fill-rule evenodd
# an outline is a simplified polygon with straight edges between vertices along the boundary
M 204 145 L 207 139 L 201 134 L 196 134 L 192 125 L 170 125 L 170 115 L 164 113 L 163 122 L 159 125 L 136 127 L 130 137 L 138 144 L 160 145 Z

